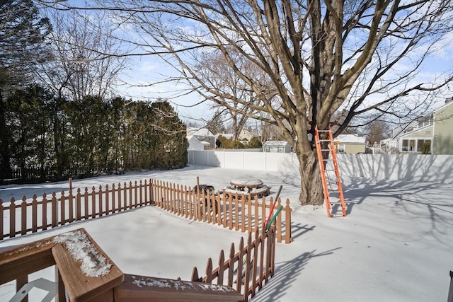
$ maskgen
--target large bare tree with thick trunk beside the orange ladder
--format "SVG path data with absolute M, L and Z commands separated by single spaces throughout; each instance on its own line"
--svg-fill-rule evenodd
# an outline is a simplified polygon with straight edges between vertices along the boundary
M 425 60 L 452 31 L 451 0 L 110 0 L 98 5 L 115 13 L 125 30 L 139 33 L 128 40 L 143 53 L 158 54 L 177 69 L 173 80 L 187 81 L 205 99 L 231 110 L 225 100 L 264 112 L 246 115 L 277 125 L 292 145 L 302 204 L 323 203 L 316 151 L 307 138 L 316 125 L 333 124 L 338 134 L 357 115 L 420 115 L 432 92 L 451 91 L 451 70 L 418 78 Z M 259 103 L 235 98 L 197 73 L 203 55 L 217 52 Z M 238 53 L 271 79 L 271 91 L 238 65 Z M 331 120 L 338 110 L 343 118 Z

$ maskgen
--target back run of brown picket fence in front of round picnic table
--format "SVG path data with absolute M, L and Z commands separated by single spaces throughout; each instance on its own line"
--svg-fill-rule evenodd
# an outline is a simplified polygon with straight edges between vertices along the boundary
M 258 198 L 252 194 L 221 194 L 221 192 L 195 193 L 190 187 L 183 187 L 169 182 L 150 180 L 153 187 L 154 202 L 157 207 L 166 209 L 178 216 L 204 221 L 241 232 L 256 232 L 267 220 L 274 202 L 270 197 Z M 194 192 L 195 191 L 195 192 Z M 278 243 L 285 240 L 291 243 L 291 207 L 289 199 L 285 206 L 277 199 L 274 214 L 282 207 L 275 217 L 275 237 Z

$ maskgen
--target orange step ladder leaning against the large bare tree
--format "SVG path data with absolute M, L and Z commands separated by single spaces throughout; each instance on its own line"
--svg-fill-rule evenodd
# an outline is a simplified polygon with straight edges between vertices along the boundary
M 327 133 L 327 139 L 320 139 L 319 133 L 322 133 L 322 132 Z M 343 187 L 341 186 L 340 170 L 338 169 L 336 147 L 335 147 L 335 144 L 333 144 L 331 127 L 329 126 L 327 130 L 319 130 L 318 126 L 315 126 L 314 127 L 314 137 L 315 137 L 315 143 L 316 143 L 316 151 L 318 153 L 319 168 L 321 169 L 321 179 L 323 182 L 324 202 L 326 204 L 327 216 L 328 217 L 333 216 L 331 209 L 332 209 L 332 205 L 336 204 L 336 203 L 331 202 L 331 199 L 329 197 L 329 187 L 330 187 L 330 189 L 331 189 L 330 191 L 338 193 L 338 199 L 339 199 L 338 203 L 340 204 L 343 217 L 345 217 L 346 216 L 345 197 L 343 195 Z M 322 149 L 323 146 L 326 146 L 326 143 L 328 145 L 328 149 Z M 323 152 L 328 153 L 326 158 L 323 158 Z M 332 170 L 332 169 L 329 170 L 329 168 L 331 168 L 331 167 L 328 166 L 328 162 L 330 162 L 330 161 L 332 162 L 333 170 L 335 171 L 335 176 L 336 176 L 336 180 L 334 182 L 330 182 L 329 175 L 328 175 L 328 172 Z M 336 190 L 331 187 L 332 183 L 336 183 L 336 185 L 337 185 Z

